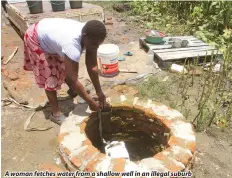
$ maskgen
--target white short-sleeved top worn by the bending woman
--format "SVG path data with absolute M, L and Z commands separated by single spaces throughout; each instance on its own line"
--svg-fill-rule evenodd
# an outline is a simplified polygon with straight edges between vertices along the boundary
M 79 62 L 82 53 L 81 31 L 85 23 L 71 19 L 45 18 L 37 25 L 40 46 L 45 53 L 67 55 Z

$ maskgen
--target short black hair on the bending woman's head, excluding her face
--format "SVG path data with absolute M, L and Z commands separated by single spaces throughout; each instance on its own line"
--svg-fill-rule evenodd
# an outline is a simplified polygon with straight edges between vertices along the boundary
M 104 40 L 106 37 L 106 27 L 98 20 L 88 21 L 82 29 L 82 34 L 85 33 L 88 38 L 96 40 Z

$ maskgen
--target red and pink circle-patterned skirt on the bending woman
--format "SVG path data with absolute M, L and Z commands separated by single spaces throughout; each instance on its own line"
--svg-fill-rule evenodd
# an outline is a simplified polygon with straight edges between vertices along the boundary
M 24 70 L 33 71 L 39 88 L 56 91 L 65 80 L 64 60 L 41 49 L 36 27 L 33 24 L 24 35 Z

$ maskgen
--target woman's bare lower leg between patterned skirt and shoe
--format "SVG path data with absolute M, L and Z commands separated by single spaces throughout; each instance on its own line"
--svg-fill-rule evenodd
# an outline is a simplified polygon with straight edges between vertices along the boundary
M 48 97 L 48 101 L 52 107 L 52 115 L 53 116 L 62 115 L 62 112 L 60 111 L 60 108 L 58 106 L 57 92 L 56 91 L 49 91 L 49 90 L 45 90 L 45 92 L 46 92 L 46 95 Z

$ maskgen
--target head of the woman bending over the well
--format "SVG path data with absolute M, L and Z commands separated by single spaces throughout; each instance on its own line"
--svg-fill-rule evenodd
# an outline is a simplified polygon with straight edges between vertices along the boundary
M 88 21 L 82 29 L 82 41 L 88 50 L 96 50 L 105 38 L 106 27 L 98 20 Z

